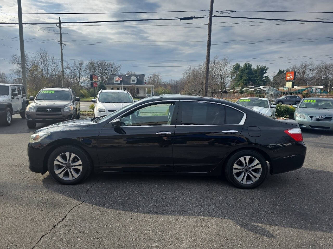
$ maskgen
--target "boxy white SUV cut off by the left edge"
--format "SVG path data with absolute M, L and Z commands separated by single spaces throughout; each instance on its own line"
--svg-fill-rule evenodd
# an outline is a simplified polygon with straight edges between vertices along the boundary
M 21 84 L 0 84 L 0 123 L 8 126 L 12 115 L 20 113 L 25 118 L 25 108 L 29 105 L 24 86 Z

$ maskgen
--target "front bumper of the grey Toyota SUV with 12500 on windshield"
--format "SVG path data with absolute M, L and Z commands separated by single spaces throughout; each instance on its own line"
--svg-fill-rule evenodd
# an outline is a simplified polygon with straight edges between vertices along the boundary
M 76 115 L 76 109 L 72 111 L 62 111 L 61 115 L 36 115 L 36 111 L 26 111 L 26 119 L 36 123 L 52 123 L 70 120 Z

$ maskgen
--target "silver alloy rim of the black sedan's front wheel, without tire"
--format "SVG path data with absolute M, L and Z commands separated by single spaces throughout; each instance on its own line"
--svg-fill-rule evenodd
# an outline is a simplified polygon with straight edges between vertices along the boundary
M 54 172 L 63 180 L 71 181 L 82 172 L 82 161 L 74 153 L 65 152 L 56 157 L 53 163 Z

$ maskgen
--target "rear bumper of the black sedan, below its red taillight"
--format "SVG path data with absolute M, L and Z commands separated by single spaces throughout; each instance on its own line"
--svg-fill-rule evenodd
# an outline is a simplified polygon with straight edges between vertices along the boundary
M 278 174 L 297 170 L 303 166 L 306 146 L 303 142 L 295 142 L 269 154 L 271 161 L 270 174 Z

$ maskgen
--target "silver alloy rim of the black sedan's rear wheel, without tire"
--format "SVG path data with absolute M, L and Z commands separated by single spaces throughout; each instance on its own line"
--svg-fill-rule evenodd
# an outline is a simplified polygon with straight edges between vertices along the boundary
M 234 178 L 242 184 L 256 182 L 260 178 L 261 172 L 262 168 L 260 162 L 251 156 L 237 159 L 232 167 Z

